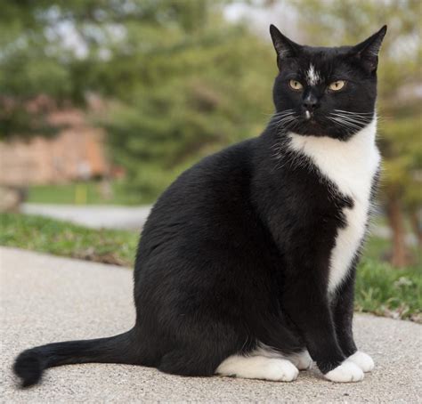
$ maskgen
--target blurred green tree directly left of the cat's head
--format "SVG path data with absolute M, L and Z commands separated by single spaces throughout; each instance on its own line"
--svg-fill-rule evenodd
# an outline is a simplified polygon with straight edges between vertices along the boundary
M 142 47 L 110 60 L 125 63 L 107 80 L 131 84 L 103 122 L 132 189 L 151 198 L 201 156 L 258 134 L 272 111 L 270 48 L 205 4 L 187 27 L 181 17 L 133 27 L 126 41 Z

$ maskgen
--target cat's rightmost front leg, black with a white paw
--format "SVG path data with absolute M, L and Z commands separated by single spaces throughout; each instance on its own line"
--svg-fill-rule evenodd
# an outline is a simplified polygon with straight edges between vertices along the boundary
M 337 340 L 347 360 L 352 361 L 363 372 L 374 368 L 374 361 L 365 352 L 358 351 L 353 339 L 353 297 L 356 268 L 353 265 L 349 277 L 333 296 L 333 317 L 336 325 Z

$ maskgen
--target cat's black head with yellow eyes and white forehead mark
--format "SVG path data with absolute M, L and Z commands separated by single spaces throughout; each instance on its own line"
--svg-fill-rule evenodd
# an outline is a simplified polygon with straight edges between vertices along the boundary
M 273 25 L 279 74 L 276 122 L 304 135 L 347 140 L 374 117 L 378 52 L 386 26 L 354 46 L 296 44 Z

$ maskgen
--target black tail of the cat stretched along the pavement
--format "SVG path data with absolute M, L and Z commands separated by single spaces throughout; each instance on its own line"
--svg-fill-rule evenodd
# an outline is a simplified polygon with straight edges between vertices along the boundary
M 132 330 L 124 334 L 85 341 L 68 341 L 37 346 L 20 353 L 13 371 L 22 387 L 37 384 L 46 368 L 72 363 L 138 363 L 132 349 Z

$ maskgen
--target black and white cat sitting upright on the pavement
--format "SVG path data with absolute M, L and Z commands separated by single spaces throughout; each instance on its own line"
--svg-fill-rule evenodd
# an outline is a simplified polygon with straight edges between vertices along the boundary
M 374 367 L 353 341 L 353 284 L 380 157 L 377 54 L 296 44 L 271 26 L 276 113 L 259 137 L 209 156 L 158 199 L 134 271 L 136 324 L 23 351 L 14 371 L 112 362 L 184 376 L 334 382 Z

